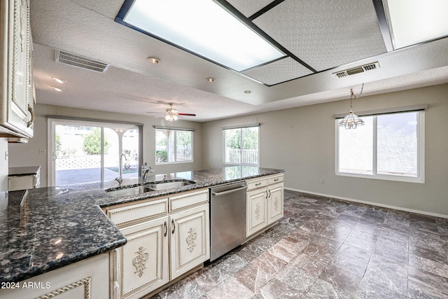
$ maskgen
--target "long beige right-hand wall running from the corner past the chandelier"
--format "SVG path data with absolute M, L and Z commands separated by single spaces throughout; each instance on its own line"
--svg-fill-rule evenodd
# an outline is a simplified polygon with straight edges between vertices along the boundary
M 448 84 L 360 97 L 353 102 L 353 110 L 416 104 L 429 105 L 425 183 L 335 175 L 333 115 L 346 113 L 349 99 L 205 123 L 203 165 L 221 167 L 222 127 L 260 123 L 260 166 L 286 169 L 286 188 L 448 215 Z

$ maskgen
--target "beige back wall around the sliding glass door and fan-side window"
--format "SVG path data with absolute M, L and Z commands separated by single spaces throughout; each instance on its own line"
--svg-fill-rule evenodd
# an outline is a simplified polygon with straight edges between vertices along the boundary
M 35 107 L 34 137 L 28 144 L 9 144 L 9 167 L 41 166 L 41 187 L 47 186 L 48 153 L 39 153 L 40 149 L 47 150 L 48 122 L 46 116 L 60 116 L 69 118 L 87 118 L 92 120 L 113 120 L 144 124 L 143 160 L 155 168 L 155 174 L 202 169 L 202 124 L 178 120 L 173 127 L 188 127 L 195 130 L 193 134 L 194 161 L 174 165 L 155 165 L 155 130 L 153 125 L 167 126 L 163 118 L 134 116 L 122 113 L 110 113 L 85 109 L 73 109 L 61 106 L 37 104 Z M 0 148 L 1 149 L 1 148 Z

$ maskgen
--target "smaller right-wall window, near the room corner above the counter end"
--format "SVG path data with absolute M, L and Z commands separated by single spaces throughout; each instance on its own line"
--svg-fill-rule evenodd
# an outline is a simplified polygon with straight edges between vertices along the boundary
M 225 164 L 259 165 L 258 126 L 224 129 L 223 135 Z

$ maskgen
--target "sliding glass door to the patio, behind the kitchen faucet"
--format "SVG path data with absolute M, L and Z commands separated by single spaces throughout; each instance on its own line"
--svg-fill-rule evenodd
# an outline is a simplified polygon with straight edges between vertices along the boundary
M 123 177 L 139 176 L 139 125 L 49 118 L 48 126 L 48 186 L 112 181 L 121 153 Z

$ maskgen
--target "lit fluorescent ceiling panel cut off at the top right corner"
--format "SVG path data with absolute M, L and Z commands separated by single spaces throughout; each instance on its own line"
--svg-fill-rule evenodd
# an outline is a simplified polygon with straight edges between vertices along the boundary
M 387 0 L 395 49 L 448 35 L 447 0 Z

